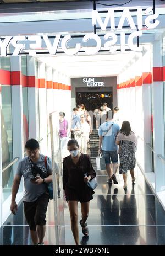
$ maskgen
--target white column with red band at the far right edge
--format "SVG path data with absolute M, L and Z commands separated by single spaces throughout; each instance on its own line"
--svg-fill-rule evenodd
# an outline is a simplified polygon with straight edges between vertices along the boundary
M 158 154 L 164 157 L 164 110 L 163 110 L 163 58 L 162 39 L 153 43 L 153 147 L 155 164 L 155 191 L 162 191 L 164 184 L 164 164 Z

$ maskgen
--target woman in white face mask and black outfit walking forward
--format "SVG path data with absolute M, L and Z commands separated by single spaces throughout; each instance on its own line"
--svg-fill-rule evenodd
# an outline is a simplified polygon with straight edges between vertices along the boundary
M 79 144 L 76 140 L 68 141 L 70 156 L 63 161 L 63 189 L 70 211 L 70 220 L 75 244 L 79 244 L 78 229 L 78 202 L 81 203 L 80 225 L 82 232 L 88 236 L 87 217 L 89 214 L 90 200 L 93 199 L 94 190 L 87 186 L 87 182 L 96 177 L 96 172 L 92 167 L 87 154 L 79 153 Z M 86 174 L 87 175 L 84 175 Z

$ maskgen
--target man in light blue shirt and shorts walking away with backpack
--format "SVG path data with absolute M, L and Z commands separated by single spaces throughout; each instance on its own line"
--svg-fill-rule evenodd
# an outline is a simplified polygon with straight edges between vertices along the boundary
M 106 171 L 108 174 L 108 184 L 118 184 L 116 172 L 118 169 L 118 146 L 116 145 L 116 136 L 120 132 L 120 126 L 113 122 L 113 111 L 109 110 L 106 114 L 106 122 L 98 129 L 99 149 L 98 153 L 103 153 L 106 162 Z M 112 169 L 110 164 L 112 162 Z M 112 173 L 113 172 L 113 173 Z

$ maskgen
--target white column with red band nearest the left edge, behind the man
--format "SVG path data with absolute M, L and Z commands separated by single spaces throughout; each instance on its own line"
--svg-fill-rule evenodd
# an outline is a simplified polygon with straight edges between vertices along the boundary
M 23 90 L 21 84 L 21 57 L 10 57 L 11 86 L 12 86 L 12 133 L 13 133 L 13 158 L 24 158 L 24 127 L 23 127 Z M 13 178 L 17 172 L 19 160 L 13 164 Z M 23 198 L 23 179 L 17 193 L 17 204 Z M 3 221 L 9 216 L 11 195 L 3 203 Z

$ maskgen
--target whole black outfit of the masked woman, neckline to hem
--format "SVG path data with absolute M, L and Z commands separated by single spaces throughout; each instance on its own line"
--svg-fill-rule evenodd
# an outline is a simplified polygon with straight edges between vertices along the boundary
M 63 189 L 67 201 L 89 202 L 93 199 L 94 190 L 84 182 L 84 174 L 91 176 L 91 180 L 96 177 L 96 172 L 92 167 L 87 154 L 82 154 L 78 163 L 74 164 L 72 156 L 64 158 L 63 161 Z

